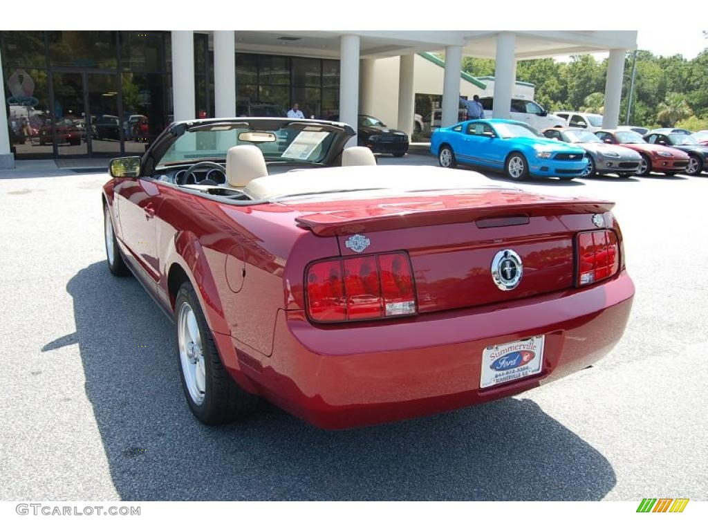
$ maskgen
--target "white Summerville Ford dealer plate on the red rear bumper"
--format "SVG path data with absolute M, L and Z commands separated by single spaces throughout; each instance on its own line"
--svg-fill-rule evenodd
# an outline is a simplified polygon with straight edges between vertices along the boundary
M 484 389 L 541 372 L 544 338 L 535 336 L 485 348 L 479 387 Z

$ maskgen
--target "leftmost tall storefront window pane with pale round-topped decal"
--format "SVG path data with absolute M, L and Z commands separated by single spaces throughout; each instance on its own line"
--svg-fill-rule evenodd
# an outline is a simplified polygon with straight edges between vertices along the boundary
M 3 57 L 4 59 L 4 57 Z M 51 158 L 51 114 L 46 70 L 3 69 L 8 110 L 10 145 L 18 159 Z M 45 125 L 49 125 L 47 131 Z M 50 142 L 41 143 L 40 133 L 48 132 Z

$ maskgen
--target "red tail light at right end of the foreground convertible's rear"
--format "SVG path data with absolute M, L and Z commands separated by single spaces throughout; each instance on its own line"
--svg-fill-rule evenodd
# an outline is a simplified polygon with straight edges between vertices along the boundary
M 581 232 L 577 236 L 576 285 L 587 286 L 610 278 L 619 270 L 617 234 L 611 230 Z

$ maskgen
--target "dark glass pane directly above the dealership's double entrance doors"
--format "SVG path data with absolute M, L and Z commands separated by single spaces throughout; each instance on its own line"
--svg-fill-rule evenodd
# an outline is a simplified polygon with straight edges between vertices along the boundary
M 52 67 L 117 68 L 115 31 L 48 31 Z

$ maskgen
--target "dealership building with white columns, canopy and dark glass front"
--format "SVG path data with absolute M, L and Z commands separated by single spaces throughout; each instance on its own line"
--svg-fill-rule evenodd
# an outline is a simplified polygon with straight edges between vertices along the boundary
M 438 108 L 442 125 L 457 122 L 461 95 L 493 95 L 494 117 L 508 118 L 511 98 L 533 96 L 518 61 L 593 52 L 610 55 L 614 127 L 634 48 L 636 31 L 4 30 L 0 168 L 141 154 L 173 120 L 277 115 L 295 101 L 307 117 L 367 114 L 409 133 Z M 494 76 L 461 72 L 467 55 L 495 59 Z

